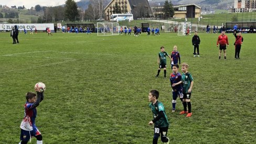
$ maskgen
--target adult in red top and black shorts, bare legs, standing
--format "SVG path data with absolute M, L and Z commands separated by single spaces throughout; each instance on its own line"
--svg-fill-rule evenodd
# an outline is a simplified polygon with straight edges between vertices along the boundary
M 229 45 L 229 43 L 228 43 L 228 36 L 225 35 L 225 31 L 222 31 L 221 35 L 219 35 L 219 37 L 218 37 L 217 47 L 219 47 L 219 45 L 220 45 L 219 60 L 220 60 L 222 50 L 223 50 L 223 53 L 224 53 L 224 59 L 227 60 L 226 51 L 227 51 L 227 46 Z

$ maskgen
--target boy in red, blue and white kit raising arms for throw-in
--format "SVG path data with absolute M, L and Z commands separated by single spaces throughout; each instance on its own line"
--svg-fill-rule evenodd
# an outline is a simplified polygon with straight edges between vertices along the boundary
M 35 125 L 37 110 L 36 107 L 44 99 L 44 91 L 27 92 L 25 103 L 25 115 L 22 123 L 20 124 L 20 142 L 19 144 L 26 144 L 31 137 L 36 137 L 37 144 L 42 144 L 42 135 Z

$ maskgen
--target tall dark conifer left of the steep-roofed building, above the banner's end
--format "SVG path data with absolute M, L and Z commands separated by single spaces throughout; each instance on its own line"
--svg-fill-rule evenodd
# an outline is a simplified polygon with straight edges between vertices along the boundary
M 77 3 L 74 0 L 67 0 L 65 2 L 65 16 L 70 21 L 75 21 L 79 17 Z

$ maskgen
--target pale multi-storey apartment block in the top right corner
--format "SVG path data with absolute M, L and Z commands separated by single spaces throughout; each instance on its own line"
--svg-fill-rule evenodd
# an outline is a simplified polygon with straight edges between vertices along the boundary
M 252 11 L 256 11 L 256 0 L 234 0 L 234 7 L 229 9 L 230 13 Z

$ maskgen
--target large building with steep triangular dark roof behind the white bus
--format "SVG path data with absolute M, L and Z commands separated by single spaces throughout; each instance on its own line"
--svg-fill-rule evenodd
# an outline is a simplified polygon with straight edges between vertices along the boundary
M 120 8 L 121 14 L 133 14 L 133 18 L 151 17 L 152 11 L 147 0 L 112 0 L 105 8 L 106 20 L 114 14 L 116 7 Z

